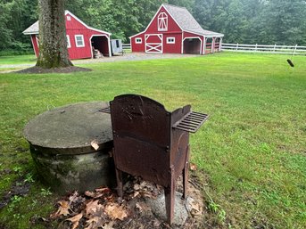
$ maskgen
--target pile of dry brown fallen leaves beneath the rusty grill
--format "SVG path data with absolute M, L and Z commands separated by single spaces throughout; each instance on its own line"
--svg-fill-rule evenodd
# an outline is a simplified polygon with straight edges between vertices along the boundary
M 178 178 L 177 190 L 182 191 L 182 178 Z M 120 199 L 107 187 L 94 192 L 73 192 L 56 204 L 57 210 L 45 223 L 56 220 L 59 229 L 117 229 L 117 228 L 201 228 L 203 199 L 195 187 L 196 182 L 189 180 L 186 210 L 189 217 L 184 225 L 168 225 L 155 217 L 145 200 L 156 199 L 163 195 L 163 188 L 146 182 L 140 177 L 129 176 L 124 185 L 124 196 Z

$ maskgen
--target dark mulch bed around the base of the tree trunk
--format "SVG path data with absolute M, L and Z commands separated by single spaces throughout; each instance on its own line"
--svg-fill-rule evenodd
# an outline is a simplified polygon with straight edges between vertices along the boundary
M 43 69 L 41 67 L 31 67 L 25 70 L 16 71 L 16 73 L 22 74 L 44 74 L 44 73 L 71 73 L 71 72 L 79 72 L 79 71 L 91 71 L 86 68 L 80 68 L 76 66 L 70 66 L 65 68 L 54 68 L 54 69 Z

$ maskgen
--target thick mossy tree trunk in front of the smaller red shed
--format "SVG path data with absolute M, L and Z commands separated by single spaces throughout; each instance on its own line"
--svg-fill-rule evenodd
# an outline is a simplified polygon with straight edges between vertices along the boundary
M 64 0 L 39 0 L 39 55 L 45 69 L 72 66 L 67 50 Z

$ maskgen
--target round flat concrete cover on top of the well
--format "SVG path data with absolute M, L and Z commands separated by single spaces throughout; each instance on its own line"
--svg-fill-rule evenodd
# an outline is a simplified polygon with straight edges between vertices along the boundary
M 45 111 L 29 121 L 24 135 L 32 145 L 63 149 L 63 154 L 95 151 L 93 141 L 101 148 L 112 141 L 111 116 L 101 112 L 107 106 L 107 102 L 81 102 Z

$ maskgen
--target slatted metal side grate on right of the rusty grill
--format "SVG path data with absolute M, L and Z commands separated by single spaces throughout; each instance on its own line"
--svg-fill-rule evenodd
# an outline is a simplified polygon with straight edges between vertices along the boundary
M 207 114 L 192 111 L 183 119 L 180 119 L 177 123 L 175 123 L 173 127 L 190 133 L 195 133 L 208 119 L 208 117 L 209 116 Z

